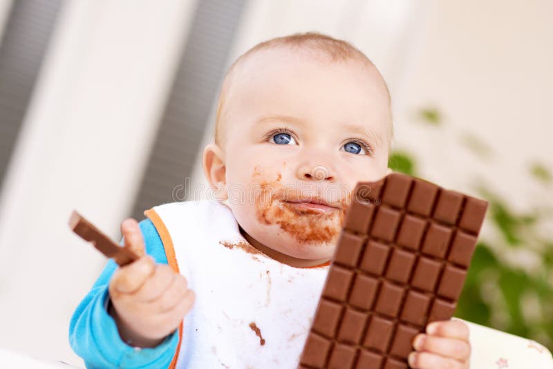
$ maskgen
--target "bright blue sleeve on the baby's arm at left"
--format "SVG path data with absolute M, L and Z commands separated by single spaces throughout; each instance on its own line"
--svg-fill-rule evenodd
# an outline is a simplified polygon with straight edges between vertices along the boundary
M 167 264 L 161 238 L 151 220 L 140 223 L 146 253 Z M 92 289 L 79 303 L 69 324 L 69 343 L 86 368 L 167 368 L 178 345 L 178 332 L 155 348 L 133 348 L 119 337 L 115 321 L 107 312 L 108 285 L 118 265 L 109 259 Z

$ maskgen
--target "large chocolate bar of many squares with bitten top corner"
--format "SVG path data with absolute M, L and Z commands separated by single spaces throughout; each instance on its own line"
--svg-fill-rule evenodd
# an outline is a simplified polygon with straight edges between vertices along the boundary
M 416 334 L 456 308 L 487 202 L 392 173 L 359 182 L 300 368 L 408 368 Z

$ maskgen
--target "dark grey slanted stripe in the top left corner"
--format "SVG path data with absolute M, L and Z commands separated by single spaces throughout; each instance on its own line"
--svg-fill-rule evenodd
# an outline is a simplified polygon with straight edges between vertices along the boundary
M 15 0 L 0 44 L 0 191 L 62 0 Z

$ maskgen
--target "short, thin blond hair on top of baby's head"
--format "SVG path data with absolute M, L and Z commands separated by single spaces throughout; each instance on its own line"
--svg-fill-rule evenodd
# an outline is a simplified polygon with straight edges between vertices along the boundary
M 261 50 L 281 47 L 288 47 L 292 49 L 301 48 L 303 50 L 315 51 L 317 55 L 327 57 L 332 62 L 357 60 L 377 70 L 371 59 L 368 59 L 368 57 L 366 57 L 364 53 L 362 53 L 359 49 L 350 44 L 348 41 L 335 39 L 328 35 L 323 35 L 319 32 L 295 33 L 293 35 L 276 37 L 274 39 L 260 42 L 259 44 L 256 44 L 256 46 L 250 48 L 250 50 L 247 50 L 245 53 L 243 53 L 240 57 L 238 57 L 238 59 L 236 59 L 232 66 L 230 66 L 227 70 L 227 74 L 225 75 L 225 79 L 223 80 L 223 86 L 221 87 L 221 93 L 219 95 L 215 117 L 214 136 L 215 144 L 217 144 L 218 146 L 221 146 L 222 143 L 222 120 L 225 113 L 225 104 L 227 102 L 227 93 L 229 91 L 230 79 L 232 79 L 234 70 L 236 70 L 236 68 L 241 65 L 245 59 L 247 59 L 248 57 L 250 57 L 250 55 L 253 55 L 254 53 L 257 53 Z M 388 86 L 386 85 L 384 78 L 382 78 L 382 83 L 386 88 L 388 101 L 390 101 L 390 92 L 388 91 Z

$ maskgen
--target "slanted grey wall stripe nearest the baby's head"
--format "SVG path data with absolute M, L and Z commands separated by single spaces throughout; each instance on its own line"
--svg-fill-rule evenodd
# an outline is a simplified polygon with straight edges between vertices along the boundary
M 133 218 L 140 220 L 144 210 L 174 201 L 174 188 L 191 176 L 244 3 L 198 0 Z

